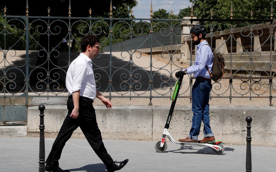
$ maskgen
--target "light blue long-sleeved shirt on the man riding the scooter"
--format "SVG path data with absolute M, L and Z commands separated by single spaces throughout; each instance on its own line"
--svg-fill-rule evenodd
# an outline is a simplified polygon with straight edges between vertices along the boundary
M 197 54 L 194 64 L 187 68 L 187 73 L 194 74 L 195 78 L 199 76 L 211 78 L 205 66 L 207 65 L 210 72 L 212 71 L 213 52 L 208 45 L 204 44 L 208 44 L 206 40 L 197 45 Z

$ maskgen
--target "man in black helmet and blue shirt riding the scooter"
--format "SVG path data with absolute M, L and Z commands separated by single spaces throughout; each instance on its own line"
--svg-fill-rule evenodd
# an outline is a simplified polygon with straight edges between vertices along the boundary
M 197 45 L 197 54 L 195 62 L 187 69 L 176 72 L 175 76 L 179 78 L 182 75 L 193 74 L 196 78 L 192 87 L 192 127 L 188 137 L 179 139 L 179 142 L 198 142 L 201 120 L 204 124 L 204 139 L 199 143 L 210 143 L 215 141 L 214 134 L 210 127 L 209 118 L 209 96 L 212 88 L 211 78 L 206 69 L 206 65 L 212 71 L 213 52 L 210 46 L 207 46 L 205 40 L 206 28 L 203 25 L 195 25 L 191 28 L 191 40 Z M 204 46 L 205 45 L 205 46 Z

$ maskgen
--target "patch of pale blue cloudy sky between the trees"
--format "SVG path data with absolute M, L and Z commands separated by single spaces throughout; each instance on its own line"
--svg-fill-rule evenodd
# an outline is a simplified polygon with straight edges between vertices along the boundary
M 151 2 L 152 2 L 152 10 L 158 11 L 159 9 L 167 10 L 167 12 L 173 11 L 174 15 L 179 13 L 180 9 L 187 8 L 188 6 L 192 6 L 189 0 L 137 0 L 138 5 L 132 9 L 132 15 L 135 18 L 149 19 L 151 17 Z

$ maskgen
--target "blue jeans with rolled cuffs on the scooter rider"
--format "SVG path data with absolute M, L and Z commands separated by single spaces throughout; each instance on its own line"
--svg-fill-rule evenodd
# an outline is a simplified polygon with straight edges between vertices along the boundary
M 209 118 L 209 98 L 211 88 L 211 82 L 202 79 L 196 79 L 192 87 L 192 111 L 194 116 L 192 118 L 190 134 L 188 135 L 192 140 L 198 140 L 201 121 L 204 124 L 204 137 L 214 136 L 211 131 Z

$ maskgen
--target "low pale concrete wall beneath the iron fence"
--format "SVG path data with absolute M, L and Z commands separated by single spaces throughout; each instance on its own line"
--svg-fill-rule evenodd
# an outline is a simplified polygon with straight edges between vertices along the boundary
M 56 136 L 67 114 L 65 105 L 45 106 L 45 136 Z M 159 140 L 162 136 L 170 106 L 95 106 L 98 126 L 105 139 Z M 247 122 L 252 117 L 252 145 L 276 146 L 276 108 L 271 106 L 212 106 L 210 125 L 216 140 L 226 144 L 246 144 Z M 29 107 L 28 135 L 39 133 L 38 106 Z M 192 111 L 190 106 L 176 106 L 169 132 L 184 138 L 190 131 Z M 199 140 L 203 138 L 203 126 Z M 84 137 L 78 128 L 72 137 Z

